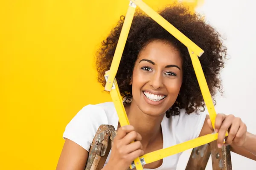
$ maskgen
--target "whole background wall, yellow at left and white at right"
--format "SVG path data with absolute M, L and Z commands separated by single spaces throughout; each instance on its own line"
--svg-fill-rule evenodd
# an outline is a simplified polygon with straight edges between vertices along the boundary
M 157 10 L 172 1 L 145 2 Z M 256 34 L 250 24 L 255 11 L 249 4 L 253 1 L 185 2 L 192 9 L 201 6 L 198 10 L 228 38 L 232 59 L 223 73 L 226 98 L 219 97 L 217 111 L 242 117 L 248 130 L 256 133 L 251 108 L 256 94 Z M 54 170 L 64 143 L 62 133 L 70 119 L 84 105 L 111 101 L 96 81 L 93 55 L 119 16 L 125 14 L 128 3 L 0 1 L 0 170 Z M 184 169 L 188 156 L 189 150 L 182 155 L 178 169 Z M 232 156 L 234 170 L 256 165 Z

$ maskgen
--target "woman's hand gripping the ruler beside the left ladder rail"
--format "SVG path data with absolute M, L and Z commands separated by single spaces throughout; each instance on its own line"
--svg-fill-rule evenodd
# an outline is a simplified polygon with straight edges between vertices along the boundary
M 133 126 L 120 127 L 113 141 L 110 159 L 103 169 L 127 170 L 134 159 L 144 154 L 141 139 Z

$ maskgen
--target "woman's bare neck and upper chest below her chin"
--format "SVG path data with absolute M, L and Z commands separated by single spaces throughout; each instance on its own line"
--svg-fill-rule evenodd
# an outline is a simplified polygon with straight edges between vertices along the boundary
M 126 107 L 126 112 L 130 125 L 134 126 L 135 130 L 142 136 L 143 148 L 146 148 L 159 135 L 162 135 L 161 122 L 164 114 L 160 116 L 147 115 L 134 102 L 131 102 L 131 105 Z

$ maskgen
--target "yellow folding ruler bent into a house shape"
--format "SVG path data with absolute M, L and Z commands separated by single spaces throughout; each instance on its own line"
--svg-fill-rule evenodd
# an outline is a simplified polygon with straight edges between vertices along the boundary
M 172 34 L 175 38 L 177 38 L 177 40 L 182 42 L 188 48 L 188 51 L 192 60 L 192 65 L 195 70 L 195 74 L 201 89 L 201 93 L 203 95 L 204 102 L 209 111 L 212 127 L 215 128 L 216 112 L 215 112 L 214 104 L 212 102 L 212 97 L 209 92 L 206 79 L 204 77 L 204 72 L 202 70 L 201 63 L 198 59 L 198 57 L 201 57 L 204 51 L 200 47 L 198 47 L 198 45 L 192 42 L 188 37 L 182 34 L 177 28 L 172 26 L 171 23 L 169 23 L 167 20 L 161 17 L 160 14 L 158 14 L 152 8 L 147 6 L 142 0 L 130 0 L 128 11 L 125 16 L 125 21 L 123 23 L 121 34 L 116 46 L 116 51 L 113 56 L 113 61 L 111 63 L 111 68 L 109 71 L 106 71 L 105 73 L 105 79 L 106 79 L 105 90 L 110 91 L 111 98 L 113 100 L 113 103 L 115 105 L 115 108 L 119 117 L 120 125 L 121 126 L 129 125 L 129 120 L 125 112 L 124 105 L 122 103 L 122 96 L 120 95 L 115 77 L 116 77 L 116 72 L 118 70 L 122 53 L 125 47 L 125 43 L 128 37 L 128 33 L 131 28 L 131 23 L 134 17 L 135 9 L 137 6 L 139 6 L 145 12 L 145 14 L 151 17 L 160 26 L 165 28 L 166 31 Z M 226 133 L 226 136 L 227 135 L 228 134 Z M 164 149 L 156 150 L 151 153 L 147 153 L 141 156 L 140 158 L 135 159 L 134 162 L 130 165 L 130 168 L 132 169 L 136 167 L 137 170 L 143 170 L 144 164 L 149 164 L 151 162 L 163 159 L 167 156 L 171 156 L 171 155 L 183 152 L 185 150 L 198 147 L 203 144 L 207 144 L 209 142 L 216 140 L 217 138 L 218 138 L 218 133 L 212 133 L 212 134 L 198 137 L 196 139 L 189 140 L 187 142 L 177 144 L 175 146 L 171 146 Z

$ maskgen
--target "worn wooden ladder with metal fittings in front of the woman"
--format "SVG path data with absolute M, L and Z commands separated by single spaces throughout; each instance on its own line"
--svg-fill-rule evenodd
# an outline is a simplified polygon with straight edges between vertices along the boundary
M 116 136 L 112 125 L 101 125 L 91 144 L 85 170 L 101 170 L 111 150 Z M 195 147 L 189 157 L 185 170 L 204 170 L 209 157 L 212 157 L 212 170 L 232 170 L 230 146 L 217 147 L 216 140 Z

